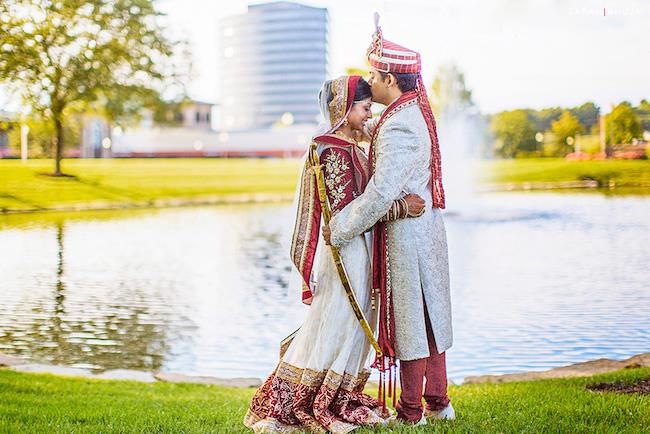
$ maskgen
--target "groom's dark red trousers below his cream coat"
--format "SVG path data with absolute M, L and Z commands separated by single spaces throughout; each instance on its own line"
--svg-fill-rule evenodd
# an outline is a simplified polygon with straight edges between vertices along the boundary
M 397 403 L 397 418 L 411 423 L 418 422 L 422 418 L 423 396 L 429 410 L 442 410 L 449 405 L 445 353 L 438 354 L 426 306 L 424 307 L 424 319 L 430 356 L 424 359 L 400 361 L 402 394 Z M 425 379 L 426 385 L 423 393 Z

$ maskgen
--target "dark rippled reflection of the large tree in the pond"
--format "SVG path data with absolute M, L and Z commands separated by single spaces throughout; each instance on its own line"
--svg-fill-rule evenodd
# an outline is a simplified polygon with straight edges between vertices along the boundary
M 54 249 L 43 249 L 55 257 L 51 285 L 43 279 L 47 274 L 46 258 L 38 258 L 42 261 L 40 266 L 33 264 L 36 265 L 32 276 L 36 285 L 31 286 L 25 271 L 31 267 L 34 256 L 14 256 L 19 259 L 14 264 L 3 257 L 7 267 L 2 273 L 4 283 L 18 277 L 12 276 L 13 269 L 24 278 L 14 282 L 22 281 L 24 286 L 14 288 L 13 294 L 3 288 L 0 348 L 26 358 L 91 369 L 159 369 L 167 347 L 164 316 L 152 321 L 149 301 L 142 297 L 137 300 L 137 294 L 133 294 L 135 299 L 129 297 L 125 303 L 120 303 L 119 298 L 106 298 L 96 303 L 97 294 L 86 291 L 82 291 L 85 294 L 77 291 L 68 297 L 66 223 L 64 219 L 55 219 L 51 225 L 54 239 L 38 231 L 38 240 L 33 240 L 35 243 L 31 246 L 32 253 L 41 256 L 37 251 L 46 247 L 45 243 L 55 245 Z M 10 249 L 2 250 L 8 252 Z M 51 294 L 49 297 L 47 292 Z

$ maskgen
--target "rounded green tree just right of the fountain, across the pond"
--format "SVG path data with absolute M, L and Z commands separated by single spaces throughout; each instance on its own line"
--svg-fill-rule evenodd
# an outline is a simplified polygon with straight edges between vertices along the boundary
M 490 128 L 497 139 L 497 155 L 512 158 L 518 153 L 535 150 L 535 123 L 528 110 L 497 113 L 492 118 Z

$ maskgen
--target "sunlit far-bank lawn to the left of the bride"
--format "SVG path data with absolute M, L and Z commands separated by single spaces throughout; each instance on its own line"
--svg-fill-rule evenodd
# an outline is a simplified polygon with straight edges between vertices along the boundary
M 55 178 L 51 160 L 0 161 L 0 210 L 108 206 L 160 199 L 291 194 L 295 159 L 64 160 L 74 177 Z

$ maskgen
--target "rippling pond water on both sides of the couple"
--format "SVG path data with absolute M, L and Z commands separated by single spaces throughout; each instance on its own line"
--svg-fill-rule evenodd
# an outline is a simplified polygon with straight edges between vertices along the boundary
M 263 378 L 307 313 L 288 205 L 0 216 L 0 352 Z M 445 215 L 448 371 L 650 351 L 650 198 L 492 193 Z

